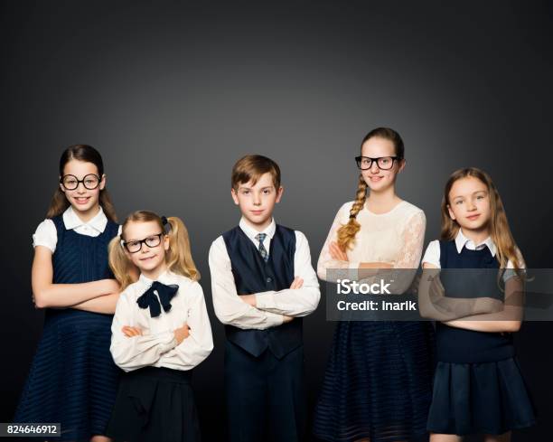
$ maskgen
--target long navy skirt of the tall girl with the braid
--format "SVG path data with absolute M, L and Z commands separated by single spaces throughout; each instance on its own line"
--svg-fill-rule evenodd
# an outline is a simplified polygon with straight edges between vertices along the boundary
M 340 442 L 427 440 L 434 346 L 427 322 L 338 323 L 314 435 Z

